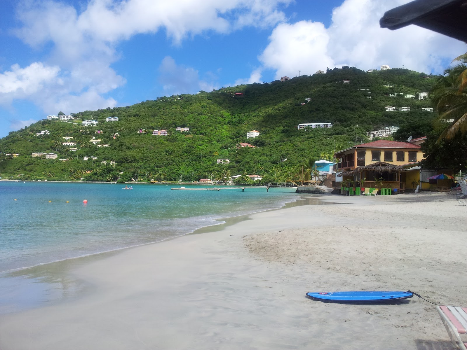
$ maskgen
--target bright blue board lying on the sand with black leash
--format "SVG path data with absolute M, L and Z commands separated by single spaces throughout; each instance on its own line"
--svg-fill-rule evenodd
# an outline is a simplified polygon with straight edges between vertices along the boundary
M 412 292 L 390 291 L 390 292 L 321 292 L 307 293 L 307 297 L 313 300 L 325 302 L 390 302 L 411 298 Z

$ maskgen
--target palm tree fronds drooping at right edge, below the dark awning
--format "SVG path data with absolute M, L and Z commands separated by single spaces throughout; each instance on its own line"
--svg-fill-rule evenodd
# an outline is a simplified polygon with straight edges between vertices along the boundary
M 466 54 L 467 55 L 467 54 Z M 463 56 L 466 56 L 463 55 Z M 461 57 L 461 56 L 460 56 Z M 459 57 L 458 57 L 459 58 Z M 464 79 L 466 81 L 464 82 Z M 446 69 L 432 89 L 433 104 L 438 112 L 435 124 L 443 126 L 453 119 L 439 136 L 439 140 L 452 140 L 460 131 L 467 132 L 467 66 L 458 64 Z

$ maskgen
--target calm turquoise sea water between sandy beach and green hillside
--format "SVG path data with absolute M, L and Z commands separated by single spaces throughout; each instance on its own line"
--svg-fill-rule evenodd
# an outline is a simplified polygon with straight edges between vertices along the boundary
M 215 219 L 279 208 L 304 196 L 290 188 L 267 193 L 264 188 L 241 192 L 177 191 L 170 187 L 178 186 L 152 184 L 122 187 L 0 182 L 0 272 L 161 241 L 219 224 Z

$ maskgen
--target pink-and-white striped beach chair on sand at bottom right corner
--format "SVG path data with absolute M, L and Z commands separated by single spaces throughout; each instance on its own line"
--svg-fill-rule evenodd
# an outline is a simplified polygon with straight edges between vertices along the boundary
M 437 310 L 454 347 L 467 350 L 467 308 L 439 306 Z M 463 339 L 460 336 L 461 334 Z

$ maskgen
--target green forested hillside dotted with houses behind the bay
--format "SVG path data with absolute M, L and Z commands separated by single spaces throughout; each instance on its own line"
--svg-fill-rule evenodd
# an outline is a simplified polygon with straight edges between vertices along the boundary
M 429 101 L 403 95 L 389 97 L 389 93 L 429 91 L 435 77 L 426 78 L 423 73 L 405 69 L 365 73 L 345 68 L 286 82 L 241 85 L 73 113 L 75 119 L 70 122 L 41 120 L 0 140 L 0 176 L 123 182 L 132 178 L 196 181 L 228 174 L 262 174 L 268 181 L 284 181 L 297 177 L 306 158 L 318 159 L 325 154 L 329 157 L 334 142 L 328 137 L 336 140 L 337 149 L 347 148 L 355 140 L 366 142 L 366 132 L 384 126 L 429 122 L 434 117 L 434 113 L 421 111 L 430 106 Z M 344 79 L 350 84 L 344 84 Z M 384 87 L 386 84 L 394 87 Z M 243 93 L 243 97 L 234 93 Z M 411 107 L 411 112 L 385 112 L 386 105 Z M 106 122 L 106 117 L 119 120 Z M 86 119 L 97 120 L 99 125 L 82 126 L 81 121 Z M 333 123 L 333 128 L 297 130 L 300 123 L 316 122 Z M 176 127 L 189 127 L 190 132 L 178 132 Z M 147 133 L 137 133 L 140 128 Z M 102 133 L 95 133 L 98 129 Z M 165 129 L 169 135 L 153 136 L 155 129 Z M 43 130 L 50 134 L 36 136 Z M 251 130 L 260 131 L 260 136 L 247 139 Z M 120 136 L 114 139 L 114 133 Z M 77 142 L 76 152 L 62 145 L 64 136 L 72 136 L 72 141 Z M 93 145 L 92 137 L 110 147 Z M 257 147 L 237 149 L 240 142 Z M 53 152 L 58 157 L 32 157 L 33 152 Z M 97 160 L 83 161 L 85 156 L 95 156 Z M 60 158 L 69 160 L 59 161 Z M 230 159 L 230 164 L 217 164 L 218 158 Z M 284 159 L 287 160 L 281 161 Z M 109 161 L 116 165 L 109 165 Z M 86 174 L 89 170 L 92 172 Z

